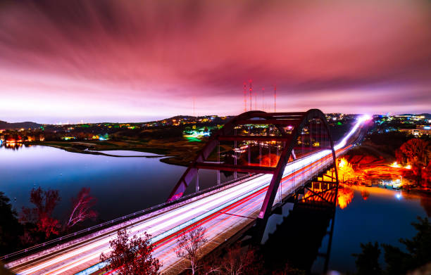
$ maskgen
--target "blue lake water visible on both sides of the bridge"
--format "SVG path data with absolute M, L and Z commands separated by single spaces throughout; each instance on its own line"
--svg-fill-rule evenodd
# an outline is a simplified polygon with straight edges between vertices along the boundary
M 185 167 L 165 164 L 160 161 L 161 157 L 150 153 L 104 153 L 131 157 L 70 153 L 46 146 L 0 147 L 0 191 L 6 193 L 19 210 L 23 205 L 30 206 L 32 188 L 58 189 L 61 203 L 54 214 L 61 218 L 67 215 L 70 199 L 80 188 L 90 187 L 92 196 L 98 200 L 95 208 L 99 219 L 108 220 L 163 203 L 185 171 Z M 202 184 L 206 183 L 201 188 L 207 188 L 215 184 L 216 174 L 202 171 L 200 180 Z M 222 180 L 226 180 L 223 174 Z M 194 188 L 192 184 L 187 192 L 191 193 Z M 416 216 L 429 217 L 431 214 L 429 196 L 377 187 L 351 187 L 344 191 L 346 198 L 339 201 L 335 213 L 330 269 L 354 271 L 355 258 L 351 253 L 361 252 L 360 243 L 378 241 L 397 245 L 399 238 L 411 238 L 416 234 L 411 226 Z M 285 210 L 286 217 L 289 211 Z M 274 228 L 277 228 L 275 224 L 283 223 L 282 215 L 279 216 L 280 219 L 271 220 Z M 282 228 L 278 226 L 277 230 L 285 230 Z M 285 231 L 279 235 L 286 235 Z M 283 238 L 289 245 L 293 236 Z M 321 243 L 319 241 L 320 252 L 326 250 L 327 243 L 327 236 Z M 319 261 L 316 260 L 314 265 L 319 265 Z

